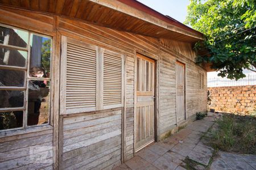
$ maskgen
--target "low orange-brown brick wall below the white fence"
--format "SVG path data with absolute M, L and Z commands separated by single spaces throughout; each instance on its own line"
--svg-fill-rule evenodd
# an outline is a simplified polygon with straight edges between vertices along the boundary
M 208 87 L 208 90 L 209 109 L 242 114 L 256 112 L 256 86 Z

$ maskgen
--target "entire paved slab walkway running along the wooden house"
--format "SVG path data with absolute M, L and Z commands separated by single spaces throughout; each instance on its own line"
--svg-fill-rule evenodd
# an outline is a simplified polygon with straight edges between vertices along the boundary
M 239 155 L 218 152 L 209 165 L 213 149 L 204 145 L 201 135 L 219 118 L 217 114 L 209 113 L 203 120 L 192 122 L 176 134 L 164 141 L 154 143 L 135 154 L 134 158 L 115 168 L 121 169 L 246 169 L 256 170 L 256 155 Z M 214 126 L 213 126 L 214 127 Z

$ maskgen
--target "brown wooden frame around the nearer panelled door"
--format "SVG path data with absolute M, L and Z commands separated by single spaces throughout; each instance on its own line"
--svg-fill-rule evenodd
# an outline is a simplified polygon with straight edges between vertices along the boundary
M 148 59 L 155 61 L 155 101 L 154 101 L 154 142 L 159 141 L 159 56 L 157 57 L 148 57 L 147 54 L 143 54 L 135 49 L 134 53 L 134 127 L 133 127 L 133 153 L 135 154 L 139 150 L 135 150 L 135 141 L 137 137 L 137 54 L 140 54 Z M 150 145 L 150 143 L 148 144 Z M 144 148 L 144 147 L 143 147 Z

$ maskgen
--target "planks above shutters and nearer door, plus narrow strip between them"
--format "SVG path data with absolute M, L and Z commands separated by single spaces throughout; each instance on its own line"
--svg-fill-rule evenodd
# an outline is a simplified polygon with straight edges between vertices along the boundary
M 126 115 L 125 115 L 125 160 L 134 156 L 134 50 L 146 56 L 157 58 L 158 40 L 135 35 L 133 33 L 115 31 L 114 29 L 98 27 L 96 25 L 75 22 L 60 18 L 59 31 L 62 35 L 89 44 L 98 45 L 126 54 Z

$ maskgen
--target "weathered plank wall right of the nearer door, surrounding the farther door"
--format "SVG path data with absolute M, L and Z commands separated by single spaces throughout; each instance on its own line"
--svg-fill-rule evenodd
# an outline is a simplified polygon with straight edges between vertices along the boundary
M 162 41 L 163 42 L 163 41 Z M 167 40 L 165 40 L 167 42 Z M 172 41 L 173 43 L 173 41 Z M 168 43 L 167 43 L 168 44 Z M 170 42 L 171 44 L 171 42 Z M 193 116 L 196 112 L 207 110 L 207 90 L 199 89 L 199 71 L 204 73 L 204 84 L 206 85 L 206 71 L 195 64 L 195 53 L 191 57 L 184 57 L 176 53 L 175 46 L 184 45 L 183 42 L 176 42 L 172 48 L 167 45 L 160 47 L 160 135 L 174 128 L 176 122 L 176 61 L 185 63 L 186 74 L 186 116 Z M 183 47 L 184 48 L 184 47 Z M 178 48 L 177 48 L 178 49 Z M 188 48 L 185 50 L 189 52 Z M 191 52 L 193 53 L 193 52 Z

